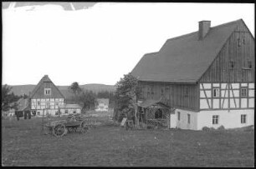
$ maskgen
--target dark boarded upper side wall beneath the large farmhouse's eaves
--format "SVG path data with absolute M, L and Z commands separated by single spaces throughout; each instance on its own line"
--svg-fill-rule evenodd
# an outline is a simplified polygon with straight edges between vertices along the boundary
M 197 111 L 199 109 L 199 87 L 197 84 L 170 84 L 141 82 L 141 99 L 164 102 L 170 107 Z

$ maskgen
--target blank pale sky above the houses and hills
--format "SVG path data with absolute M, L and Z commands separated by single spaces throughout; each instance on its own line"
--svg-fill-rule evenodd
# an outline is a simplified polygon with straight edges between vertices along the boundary
M 243 18 L 254 36 L 253 3 L 100 2 L 81 10 L 59 5 L 3 11 L 3 84 L 115 85 L 167 39 Z

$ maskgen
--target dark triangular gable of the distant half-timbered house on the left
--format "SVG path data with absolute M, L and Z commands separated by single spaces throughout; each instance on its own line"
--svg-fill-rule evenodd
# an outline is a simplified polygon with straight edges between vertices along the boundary
M 50 88 L 51 94 L 44 95 L 44 88 Z M 38 85 L 34 88 L 31 98 L 64 98 L 63 94 L 59 91 L 58 87 L 54 85 L 48 76 L 44 76 Z

